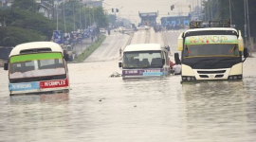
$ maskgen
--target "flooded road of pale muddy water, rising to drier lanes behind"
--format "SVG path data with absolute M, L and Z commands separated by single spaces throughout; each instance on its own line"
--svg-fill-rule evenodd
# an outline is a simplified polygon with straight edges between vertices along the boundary
M 132 43 L 143 43 L 143 35 L 134 35 Z M 149 43 L 164 43 L 160 33 L 150 36 L 157 38 Z M 178 33 L 166 36 L 176 50 Z M 255 58 L 244 63 L 239 82 L 181 85 L 179 76 L 109 78 L 120 73 L 119 47 L 128 39 L 118 33 L 107 37 L 85 62 L 68 64 L 69 94 L 9 97 L 8 73 L 1 69 L 0 141 L 255 141 Z

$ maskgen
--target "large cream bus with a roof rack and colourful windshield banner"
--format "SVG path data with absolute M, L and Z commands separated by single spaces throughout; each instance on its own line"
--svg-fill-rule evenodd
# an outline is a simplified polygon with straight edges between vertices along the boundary
M 248 53 L 241 31 L 230 27 L 229 21 L 191 22 L 190 27 L 178 38 L 181 82 L 242 80 L 243 62 Z M 179 61 L 178 53 L 175 53 L 176 61 Z

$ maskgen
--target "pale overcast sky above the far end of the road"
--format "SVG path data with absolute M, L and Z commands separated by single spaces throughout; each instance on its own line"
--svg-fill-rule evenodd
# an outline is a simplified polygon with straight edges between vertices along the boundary
M 157 12 L 159 11 L 160 17 L 176 15 L 179 12 L 188 13 L 190 11 L 189 5 L 196 6 L 200 0 L 104 0 L 103 7 L 111 13 L 111 9 L 119 9 L 118 16 L 130 19 L 131 21 L 139 22 L 138 11 L 140 12 Z M 175 9 L 171 11 L 171 5 L 175 4 Z

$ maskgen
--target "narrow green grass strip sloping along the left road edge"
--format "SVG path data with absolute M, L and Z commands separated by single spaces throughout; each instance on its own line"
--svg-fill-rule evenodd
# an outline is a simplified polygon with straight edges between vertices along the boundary
M 83 62 L 86 58 L 88 58 L 105 40 L 105 35 L 100 35 L 99 40 L 96 40 L 93 44 L 88 46 L 81 55 L 74 60 L 74 62 Z

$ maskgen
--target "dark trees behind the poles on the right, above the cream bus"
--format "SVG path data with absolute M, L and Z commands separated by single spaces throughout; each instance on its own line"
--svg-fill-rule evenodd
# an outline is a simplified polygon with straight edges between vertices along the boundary
M 229 0 L 204 0 L 202 6 L 204 7 L 203 13 L 204 21 L 223 21 L 231 19 L 231 25 L 235 25 L 235 28 L 242 31 L 245 37 L 245 0 L 231 0 L 229 7 Z M 256 1 L 247 0 L 248 2 L 248 16 L 250 35 L 254 37 L 256 41 Z M 229 8 L 231 9 L 231 17 L 229 16 Z

